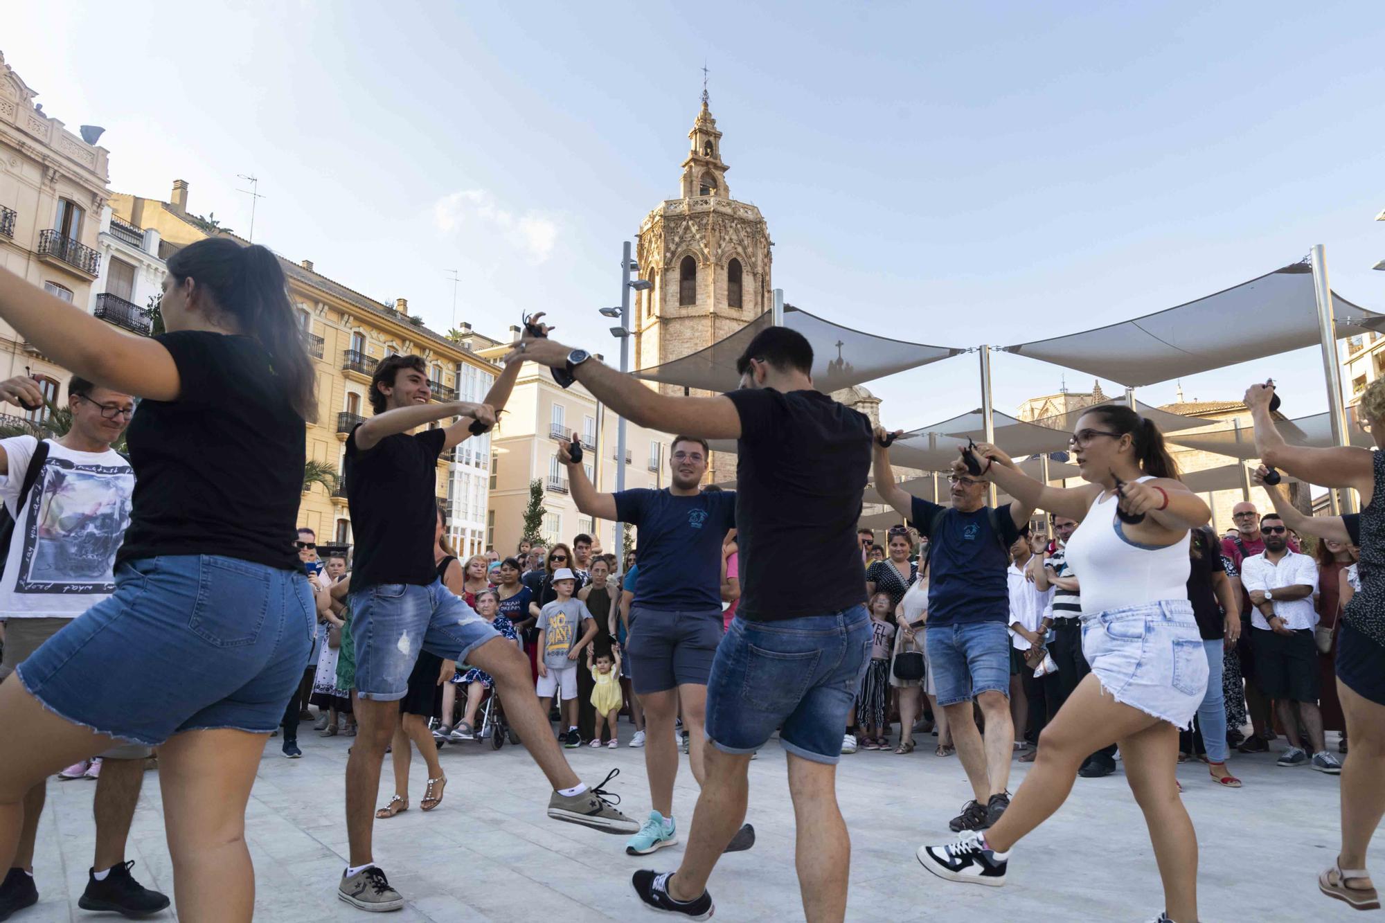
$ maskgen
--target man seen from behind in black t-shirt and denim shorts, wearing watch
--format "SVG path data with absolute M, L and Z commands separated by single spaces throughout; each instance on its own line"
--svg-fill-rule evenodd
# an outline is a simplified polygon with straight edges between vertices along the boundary
M 507 360 L 521 359 L 566 367 L 597 401 L 637 425 L 737 439 L 742 595 L 708 679 L 712 746 L 704 753 L 702 793 L 681 866 L 676 873 L 636 872 L 636 893 L 655 911 L 712 915 L 706 880 L 745 819 L 751 757 L 778 728 L 788 751 L 805 916 L 842 919 L 850 837 L 837 807 L 837 761 L 870 658 L 866 568 L 856 538 L 870 473 L 870 419 L 813 388 L 813 348 L 785 327 L 758 333 L 737 360 L 741 387 L 712 398 L 661 395 L 551 340 L 519 341 Z M 684 452 L 702 448 L 679 445 Z M 712 538 L 720 545 L 724 534 Z M 807 568 L 805 547 L 813 549 Z M 641 528 L 637 600 L 651 578 L 648 553 Z M 717 561 L 717 590 L 719 568 Z M 634 631 L 641 631 L 640 619 Z

